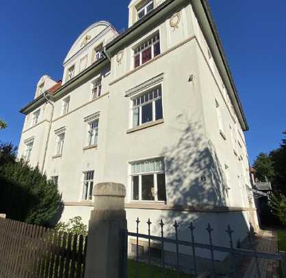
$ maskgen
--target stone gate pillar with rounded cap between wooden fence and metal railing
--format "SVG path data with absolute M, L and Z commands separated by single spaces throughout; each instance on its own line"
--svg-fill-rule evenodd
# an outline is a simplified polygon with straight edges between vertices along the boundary
M 121 278 L 122 271 L 125 272 L 122 264 L 127 260 L 122 258 L 125 249 L 122 231 L 127 230 L 125 186 L 112 182 L 96 184 L 93 195 L 85 278 Z

